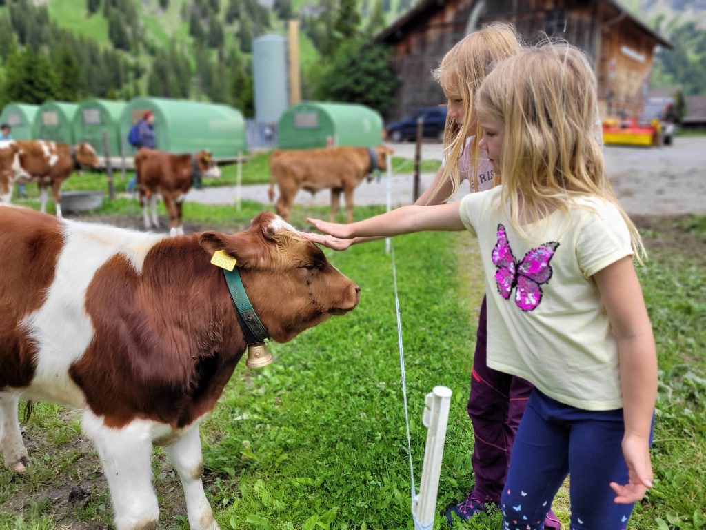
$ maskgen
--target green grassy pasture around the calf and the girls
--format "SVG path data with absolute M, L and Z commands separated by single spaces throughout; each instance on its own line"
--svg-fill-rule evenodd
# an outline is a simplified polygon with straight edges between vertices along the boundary
M 247 201 L 240 213 L 190 204 L 193 225 L 186 229 L 239 230 L 261 209 Z M 325 212 L 295 207 L 292 220 L 303 226 L 306 216 Z M 139 223 L 139 209 L 118 199 L 85 218 Z M 706 216 L 636 221 L 650 251 L 639 274 L 660 386 L 654 488 L 629 528 L 705 528 Z M 395 253 L 417 483 L 424 396 L 436 384 L 453 390 L 438 496 L 443 510 L 473 484 L 465 401 L 483 289 L 479 257 L 465 233 L 397 237 Z M 202 426 L 205 487 L 223 529 L 412 529 L 390 258 L 381 241 L 327 255 L 361 285 L 359 307 L 273 345 L 276 361 L 261 371 L 239 365 Z M 40 404 L 23 430 L 33 465 L 23 476 L 0 471 L 0 530 L 109 527 L 107 485 L 76 413 Z M 160 529 L 188 528 L 181 486 L 161 449 L 153 471 Z M 565 525 L 566 497 L 563 490 L 554 503 Z M 444 526 L 438 517 L 434 528 Z M 499 530 L 501 519 L 457 527 Z

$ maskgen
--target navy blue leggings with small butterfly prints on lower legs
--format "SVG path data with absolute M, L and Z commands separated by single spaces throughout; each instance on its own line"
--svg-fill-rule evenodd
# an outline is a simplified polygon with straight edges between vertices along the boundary
M 503 490 L 503 528 L 542 530 L 570 473 L 570 530 L 623 530 L 633 505 L 619 505 L 611 482 L 628 483 L 623 409 L 585 411 L 534 389 L 517 430 Z

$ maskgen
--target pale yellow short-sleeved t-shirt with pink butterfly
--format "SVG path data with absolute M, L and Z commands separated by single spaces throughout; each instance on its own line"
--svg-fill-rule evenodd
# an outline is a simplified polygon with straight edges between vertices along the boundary
M 461 200 L 477 235 L 488 303 L 488 366 L 527 379 L 547 396 L 590 411 L 623 406 L 618 348 L 592 279 L 633 254 L 618 208 L 579 199 L 570 213 L 517 235 L 500 206 L 501 186 Z

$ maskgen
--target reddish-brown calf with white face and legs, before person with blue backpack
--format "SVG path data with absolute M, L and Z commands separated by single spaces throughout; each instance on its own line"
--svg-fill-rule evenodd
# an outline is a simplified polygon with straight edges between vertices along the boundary
M 189 189 L 200 188 L 202 177 L 220 178 L 220 170 L 208 150 L 172 155 L 141 148 L 135 154 L 135 172 L 145 229 L 149 230 L 152 224 L 155 228 L 160 226 L 157 219 L 157 194 L 160 194 L 167 207 L 171 235 L 184 233 L 181 206 Z M 152 205 L 152 223 L 147 214 L 148 199 Z

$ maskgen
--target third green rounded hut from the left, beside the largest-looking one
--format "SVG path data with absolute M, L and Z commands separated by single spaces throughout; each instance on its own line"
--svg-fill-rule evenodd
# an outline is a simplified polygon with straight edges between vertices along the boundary
M 122 135 L 120 118 L 126 102 L 86 100 L 78 105 L 73 117 L 73 139 L 76 143 L 87 141 L 100 156 L 104 156 L 103 131 L 107 133 L 108 153 L 120 156 Z

